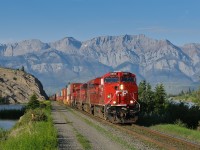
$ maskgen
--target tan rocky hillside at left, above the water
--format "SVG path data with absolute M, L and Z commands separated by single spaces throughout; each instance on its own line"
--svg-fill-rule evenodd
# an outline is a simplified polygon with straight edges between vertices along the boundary
M 38 100 L 47 99 L 37 78 L 21 70 L 0 68 L 0 97 L 3 102 L 27 103 L 33 94 L 37 95 Z

